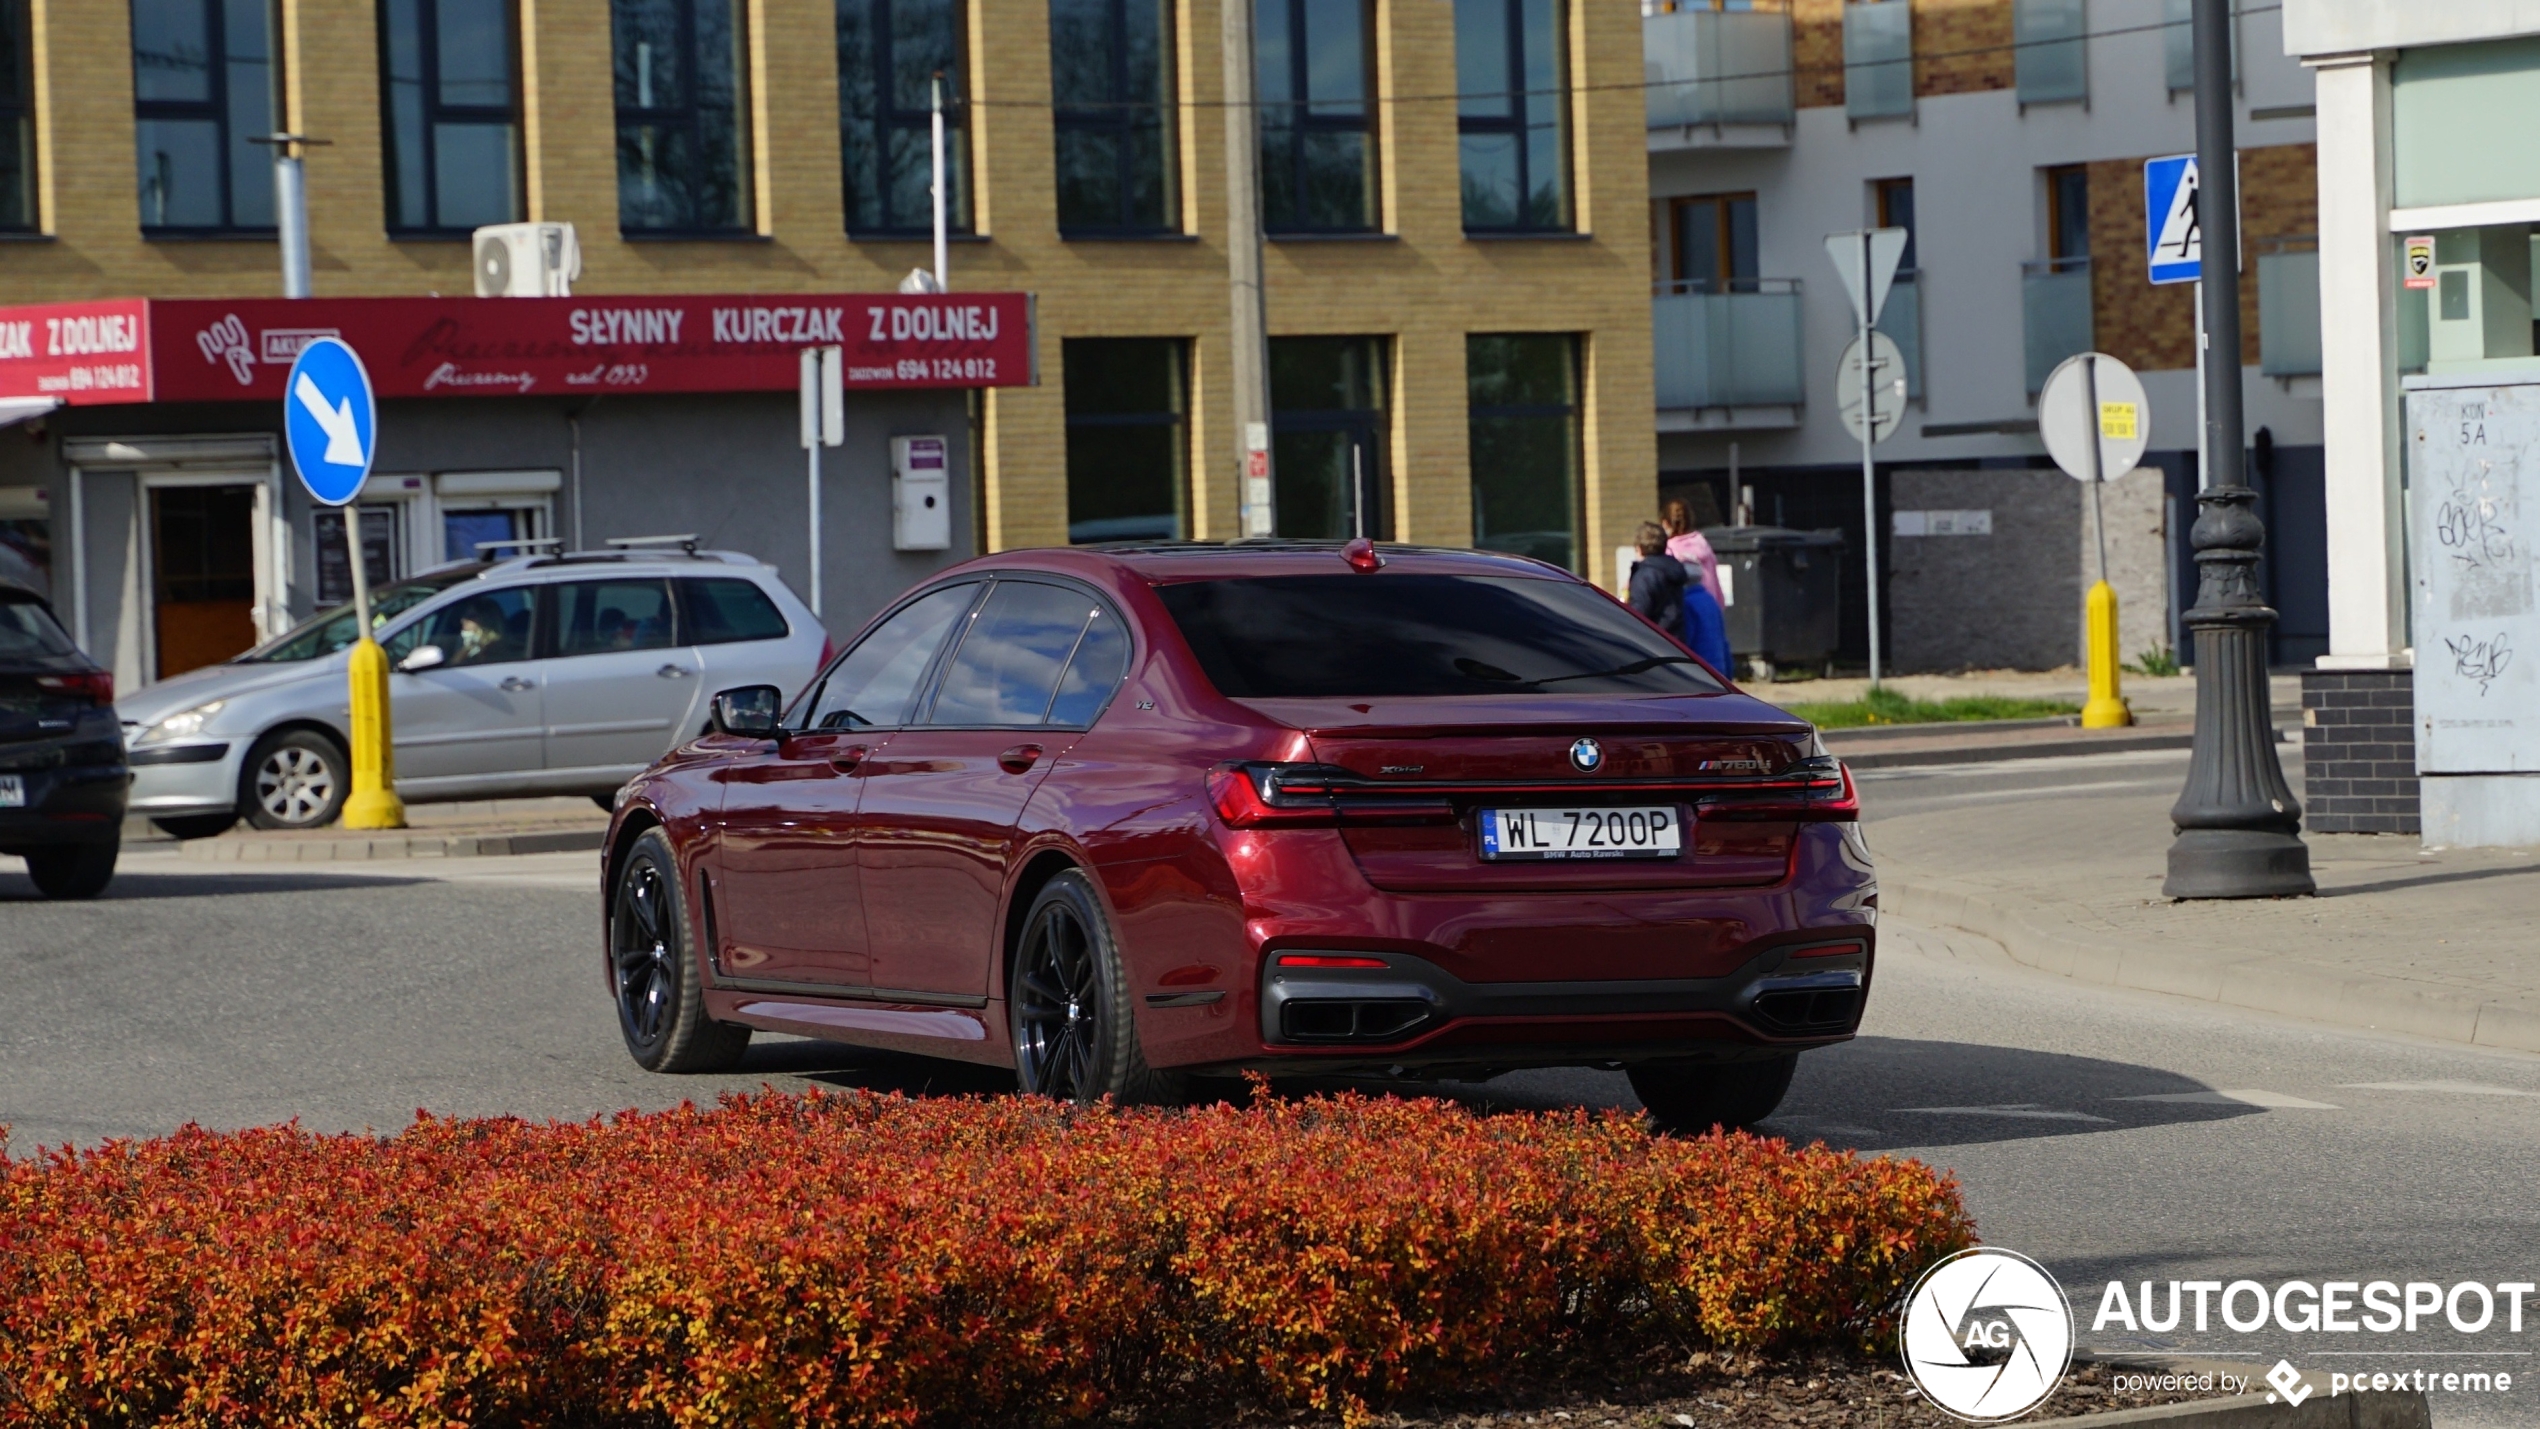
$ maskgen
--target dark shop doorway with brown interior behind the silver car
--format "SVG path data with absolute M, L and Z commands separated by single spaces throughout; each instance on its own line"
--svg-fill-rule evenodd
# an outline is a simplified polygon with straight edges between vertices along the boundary
M 150 490 L 157 680 L 257 645 L 257 485 Z

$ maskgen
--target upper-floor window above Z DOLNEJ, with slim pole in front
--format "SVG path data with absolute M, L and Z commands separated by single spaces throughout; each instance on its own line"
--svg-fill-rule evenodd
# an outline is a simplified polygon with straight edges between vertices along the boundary
M 846 231 L 935 231 L 935 76 L 945 94 L 945 226 L 970 231 L 963 0 L 838 0 Z

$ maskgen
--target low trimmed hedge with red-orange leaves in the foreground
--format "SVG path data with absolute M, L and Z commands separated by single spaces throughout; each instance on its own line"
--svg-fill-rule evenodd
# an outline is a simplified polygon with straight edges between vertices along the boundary
M 0 1157 L 0 1424 L 1359 1416 L 1654 1338 L 1880 1343 L 1966 1244 L 1920 1162 L 1443 1102 L 188 1129 Z

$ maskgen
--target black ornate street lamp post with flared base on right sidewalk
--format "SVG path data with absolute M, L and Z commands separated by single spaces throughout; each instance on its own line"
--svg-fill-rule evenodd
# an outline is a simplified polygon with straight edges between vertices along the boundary
M 2266 690 L 2266 632 L 2276 612 L 2258 596 L 2266 525 L 2243 480 L 2240 434 L 2240 234 L 2233 162 L 2230 0 L 2195 0 L 2197 228 L 2205 340 L 2205 452 L 2197 492 L 2197 604 L 2184 614 L 2197 655 L 2197 744 L 2187 787 L 2169 810 L 2172 899 L 2276 899 L 2311 893 L 2301 805 L 2276 761 Z

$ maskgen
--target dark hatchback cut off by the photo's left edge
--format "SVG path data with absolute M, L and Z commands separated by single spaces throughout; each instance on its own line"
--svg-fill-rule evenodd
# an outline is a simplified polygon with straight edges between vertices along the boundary
M 48 899 L 94 899 L 124 840 L 114 675 L 79 652 L 36 591 L 0 579 L 0 853 Z

